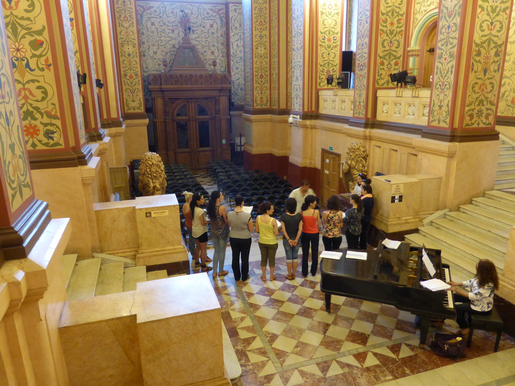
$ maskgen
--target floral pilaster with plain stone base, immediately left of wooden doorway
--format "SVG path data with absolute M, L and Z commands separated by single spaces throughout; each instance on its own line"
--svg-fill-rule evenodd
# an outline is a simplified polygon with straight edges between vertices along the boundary
M 126 162 L 141 159 L 148 151 L 143 79 L 135 0 L 110 0 L 114 29 L 116 71 L 126 127 Z

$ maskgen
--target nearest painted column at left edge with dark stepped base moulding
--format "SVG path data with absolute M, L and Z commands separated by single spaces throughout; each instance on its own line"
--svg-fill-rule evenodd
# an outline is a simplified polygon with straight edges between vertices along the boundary
M 48 204 L 34 194 L 8 44 L 0 23 L 0 267 L 27 257 L 50 221 Z

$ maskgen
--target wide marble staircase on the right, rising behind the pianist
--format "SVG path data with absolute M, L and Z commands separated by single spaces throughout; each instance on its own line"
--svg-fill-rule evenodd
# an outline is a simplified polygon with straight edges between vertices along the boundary
M 513 225 L 515 195 L 490 190 L 471 204 L 460 205 L 456 212 L 445 212 L 405 239 L 441 250 L 442 261 L 451 266 L 453 280 L 461 281 L 474 276 L 476 262 L 482 258 L 492 260 L 497 272 L 502 273 Z

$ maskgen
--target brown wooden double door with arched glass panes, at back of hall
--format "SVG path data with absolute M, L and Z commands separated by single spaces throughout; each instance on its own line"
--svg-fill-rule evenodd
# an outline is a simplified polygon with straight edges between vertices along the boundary
M 213 104 L 211 99 L 182 100 L 171 109 L 168 149 L 173 149 L 176 163 L 184 163 L 197 171 L 205 169 L 207 163 L 214 159 L 216 130 L 212 118 Z

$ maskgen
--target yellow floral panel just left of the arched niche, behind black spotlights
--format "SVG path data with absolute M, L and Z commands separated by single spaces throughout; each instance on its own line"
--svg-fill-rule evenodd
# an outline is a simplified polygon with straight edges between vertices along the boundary
M 377 64 L 375 85 L 394 87 L 389 74 L 402 71 L 406 1 L 383 0 L 379 10 L 379 42 L 377 42 Z

